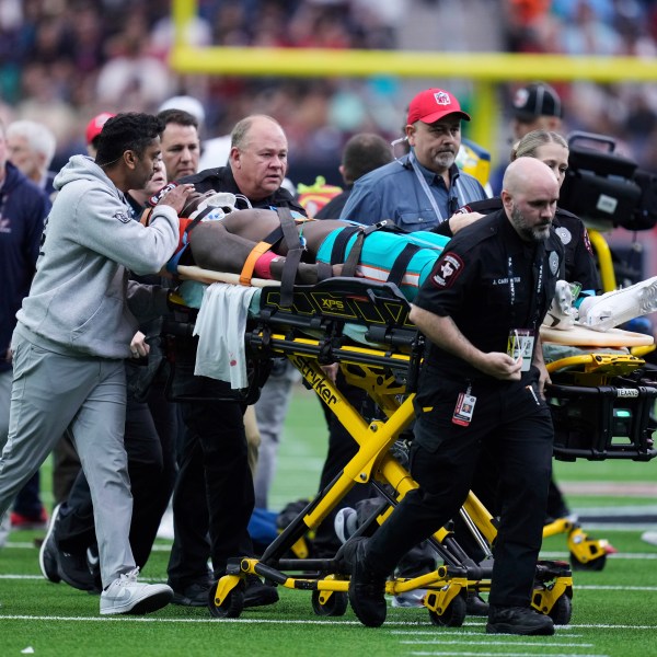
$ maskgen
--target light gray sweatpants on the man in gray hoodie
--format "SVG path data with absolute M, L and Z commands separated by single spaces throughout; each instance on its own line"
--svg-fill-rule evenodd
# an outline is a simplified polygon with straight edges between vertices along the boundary
M 71 357 L 14 334 L 9 437 L 0 457 L 0 516 L 70 426 L 87 475 L 103 586 L 135 567 L 132 496 L 124 447 L 123 360 Z

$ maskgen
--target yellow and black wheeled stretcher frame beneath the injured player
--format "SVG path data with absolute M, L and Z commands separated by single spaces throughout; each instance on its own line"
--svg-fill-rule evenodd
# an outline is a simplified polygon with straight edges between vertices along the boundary
M 333 482 L 318 493 L 260 558 L 238 556 L 229 561 L 227 575 L 210 589 L 211 615 L 238 618 L 242 613 L 243 579 L 247 574 L 286 588 L 311 591 L 312 608 L 319 615 L 345 613 L 349 569 L 342 551 L 332 558 L 308 558 L 303 541 L 354 486 L 371 484 L 383 502 L 353 538 L 384 522 L 399 500 L 417 486 L 391 450 L 413 423 L 413 397 L 424 353 L 424 337 L 408 321 L 408 302 L 396 286 L 358 278 L 297 286 L 291 306 L 285 307 L 277 287 L 263 287 L 257 311 L 245 331 L 253 387 L 261 384 L 257 372 L 266 368 L 263 364 L 274 357 L 288 358 L 359 447 Z M 380 410 L 379 417 L 362 417 L 344 399 L 322 370 L 323 365 L 333 362 L 339 364 L 350 384 L 367 392 Z M 251 400 L 256 396 L 253 391 L 245 391 L 245 395 Z M 475 539 L 489 550 L 497 530 L 474 494 L 469 495 L 461 515 Z M 466 596 L 489 590 L 492 566 L 485 561 L 483 565 L 474 563 L 449 527 L 436 532 L 430 544 L 442 565 L 418 577 L 388 580 L 387 593 L 425 589 L 423 603 L 431 623 L 460 626 L 466 613 Z M 541 562 L 533 607 L 551 615 L 555 623 L 566 624 L 572 614 L 572 596 L 568 564 Z

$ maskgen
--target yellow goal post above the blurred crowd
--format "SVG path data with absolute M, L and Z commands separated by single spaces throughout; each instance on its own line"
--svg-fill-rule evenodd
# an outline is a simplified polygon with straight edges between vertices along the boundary
M 657 59 L 568 57 L 516 53 L 337 50 L 322 48 L 197 47 L 187 38 L 196 0 L 172 0 L 174 45 L 170 66 L 181 73 L 289 78 L 453 78 L 474 85 L 475 117 L 498 116 L 495 85 L 510 81 L 655 82 Z M 469 137 L 489 150 L 495 120 L 473 120 Z

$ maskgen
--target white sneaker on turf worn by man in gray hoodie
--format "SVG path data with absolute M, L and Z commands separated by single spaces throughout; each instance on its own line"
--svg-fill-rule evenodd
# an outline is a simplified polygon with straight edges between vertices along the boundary
M 166 607 L 173 590 L 165 584 L 137 581 L 139 568 L 125 573 L 101 593 L 101 614 L 142 614 Z

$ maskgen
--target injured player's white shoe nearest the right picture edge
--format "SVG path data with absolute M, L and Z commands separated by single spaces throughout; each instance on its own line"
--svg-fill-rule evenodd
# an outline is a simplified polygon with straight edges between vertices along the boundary
M 629 288 L 587 297 L 579 306 L 579 322 L 595 331 L 609 331 L 656 310 L 657 276 L 654 276 Z

